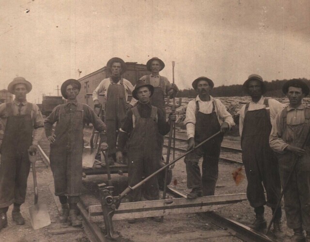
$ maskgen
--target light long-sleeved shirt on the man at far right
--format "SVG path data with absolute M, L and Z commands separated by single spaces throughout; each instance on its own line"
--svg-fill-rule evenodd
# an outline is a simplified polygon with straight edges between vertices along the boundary
M 286 124 L 288 125 L 298 125 L 305 122 L 305 105 L 301 104 L 296 108 L 291 106 L 287 107 L 287 116 L 286 116 Z M 285 148 L 289 145 L 284 142 L 282 139 L 282 117 L 283 111 L 279 112 L 276 115 L 276 118 L 273 122 L 271 133 L 269 136 L 269 144 L 270 148 L 278 153 L 285 153 Z M 289 130 L 287 130 L 289 131 Z

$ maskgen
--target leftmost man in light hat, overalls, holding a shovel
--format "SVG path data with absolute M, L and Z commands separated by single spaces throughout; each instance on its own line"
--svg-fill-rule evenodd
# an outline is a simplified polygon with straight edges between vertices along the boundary
M 25 223 L 20 205 L 26 197 L 30 171 L 28 153 L 36 153 L 44 133 L 39 107 L 28 103 L 26 99 L 31 89 L 31 83 L 24 77 L 14 78 L 8 91 L 15 95 L 15 99 L 0 105 L 0 123 L 4 131 L 0 148 L 0 229 L 7 226 L 6 212 L 12 203 L 13 220 L 17 225 Z

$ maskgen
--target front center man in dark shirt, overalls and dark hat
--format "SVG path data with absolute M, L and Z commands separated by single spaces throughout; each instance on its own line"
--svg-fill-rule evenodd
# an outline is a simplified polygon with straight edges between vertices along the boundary
M 128 185 L 134 186 L 154 173 L 159 168 L 160 142 L 159 135 L 166 135 L 170 130 L 170 121 L 160 108 L 150 104 L 150 97 L 154 93 L 154 87 L 139 80 L 132 92 L 138 99 L 138 105 L 127 111 L 126 118 L 118 136 L 117 160 L 122 159 L 122 151 L 128 140 Z M 175 121 L 176 116 L 171 115 L 170 120 Z M 141 188 L 132 191 L 129 201 L 135 202 L 141 199 Z M 145 183 L 144 197 L 148 200 L 159 199 L 159 188 L 156 177 Z M 154 217 L 160 222 L 160 217 Z M 128 222 L 135 222 L 131 220 Z

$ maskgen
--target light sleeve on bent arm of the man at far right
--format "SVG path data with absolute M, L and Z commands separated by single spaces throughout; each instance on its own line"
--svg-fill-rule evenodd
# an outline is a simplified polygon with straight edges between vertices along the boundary
M 285 153 L 285 148 L 289 146 L 282 139 L 282 113 L 283 112 L 279 112 L 276 115 L 269 136 L 270 148 L 278 153 Z

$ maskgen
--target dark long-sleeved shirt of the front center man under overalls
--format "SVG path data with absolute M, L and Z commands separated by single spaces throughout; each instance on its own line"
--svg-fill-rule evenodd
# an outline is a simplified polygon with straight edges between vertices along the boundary
M 138 102 L 137 104 L 138 112 L 141 118 L 149 118 L 151 116 L 152 106 L 150 103 L 142 104 Z M 117 150 L 123 151 L 124 146 L 127 142 L 128 134 L 133 131 L 133 121 L 132 121 L 132 110 L 128 110 L 126 113 L 126 117 L 124 120 L 124 124 L 120 129 L 118 135 L 118 142 L 117 142 Z M 158 132 L 161 135 L 166 135 L 170 131 L 170 124 L 166 121 L 166 117 L 163 114 L 163 111 L 160 108 L 157 108 L 157 127 Z

